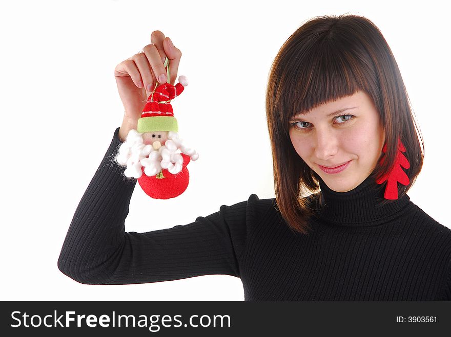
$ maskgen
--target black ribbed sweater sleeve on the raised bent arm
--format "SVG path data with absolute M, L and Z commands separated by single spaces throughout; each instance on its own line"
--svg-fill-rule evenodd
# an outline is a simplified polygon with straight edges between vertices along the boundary
M 58 258 L 59 270 L 85 284 L 134 284 L 200 275 L 240 277 L 239 259 L 252 221 L 252 200 L 147 233 L 125 232 L 136 181 L 114 162 L 119 128 L 76 208 Z M 152 223 L 149 223 L 152 228 Z

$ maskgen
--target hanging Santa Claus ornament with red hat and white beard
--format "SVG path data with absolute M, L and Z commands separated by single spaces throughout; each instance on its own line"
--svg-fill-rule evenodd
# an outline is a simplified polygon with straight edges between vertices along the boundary
M 168 58 L 165 61 L 169 80 Z M 178 124 L 171 100 L 188 85 L 185 76 L 179 83 L 155 85 L 149 95 L 137 130 L 130 130 L 115 158 L 119 165 L 127 166 L 124 175 L 136 178 L 142 190 L 154 199 L 174 198 L 185 192 L 190 175 L 187 165 L 199 154 L 183 145 L 178 138 Z

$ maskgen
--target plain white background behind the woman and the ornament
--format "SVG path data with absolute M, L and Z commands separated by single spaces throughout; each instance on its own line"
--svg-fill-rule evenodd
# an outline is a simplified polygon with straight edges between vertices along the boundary
M 136 185 L 126 231 L 189 223 L 252 193 L 274 197 L 264 110 L 271 63 L 304 21 L 344 13 L 370 18 L 395 55 L 425 141 L 423 170 L 408 195 L 450 227 L 451 74 L 448 12 L 442 6 L 438 1 L 427 7 L 325 0 L 2 2 L 0 299 L 243 300 L 241 281 L 232 276 L 83 285 L 57 268 L 74 211 L 122 121 L 114 68 L 149 44 L 154 30 L 183 53 L 178 75 L 190 83 L 172 103 L 180 137 L 200 158 L 189 166 L 187 191 L 175 199 L 151 199 Z M 242 143 L 252 150 L 236 153 Z M 232 156 L 235 163 L 227 161 Z M 171 218 L 163 216 L 174 209 Z

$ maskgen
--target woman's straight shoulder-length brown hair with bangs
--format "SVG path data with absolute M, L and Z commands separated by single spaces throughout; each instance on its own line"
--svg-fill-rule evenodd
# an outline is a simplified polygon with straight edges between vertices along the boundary
M 319 197 L 319 176 L 299 157 L 289 136 L 290 119 L 326 102 L 358 91 L 368 94 L 379 112 L 387 144 L 385 159 L 371 173 L 376 179 L 394 165 L 398 138 L 410 168 L 402 197 L 421 171 L 424 144 L 398 64 L 382 33 L 362 16 L 314 17 L 280 48 L 270 70 L 266 94 L 267 122 L 274 166 L 277 208 L 289 227 L 308 234 L 310 200 Z M 420 147 L 419 138 L 421 138 Z M 378 185 L 382 189 L 385 184 Z M 310 197 L 302 193 L 310 192 Z M 391 202 L 384 200 L 383 203 Z

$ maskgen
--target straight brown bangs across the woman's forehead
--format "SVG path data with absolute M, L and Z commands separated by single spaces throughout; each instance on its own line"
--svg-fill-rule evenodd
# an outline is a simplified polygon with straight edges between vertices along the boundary
M 345 43 L 330 36 L 324 36 L 320 43 L 310 43 L 312 46 L 305 46 L 304 49 L 308 53 L 291 55 L 296 62 L 281 60 L 279 63 L 286 64 L 288 68 L 281 72 L 292 74 L 290 78 L 280 82 L 281 87 L 292 88 L 279 96 L 283 102 L 281 116 L 284 122 L 294 116 L 306 114 L 321 104 L 336 101 L 358 91 L 364 91 L 370 96 L 375 94 L 371 89 L 371 79 L 377 82 L 374 68 L 368 67 L 368 63 L 373 62 L 365 51 L 352 51 Z

